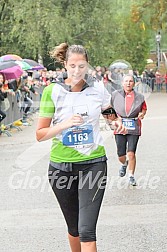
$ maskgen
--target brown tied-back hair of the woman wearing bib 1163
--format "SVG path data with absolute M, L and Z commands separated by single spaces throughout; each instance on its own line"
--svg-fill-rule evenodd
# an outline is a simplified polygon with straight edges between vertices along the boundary
M 53 51 L 50 52 L 52 58 L 56 59 L 62 65 L 64 65 L 64 61 L 67 61 L 70 53 L 78 53 L 83 54 L 88 62 L 88 54 L 86 49 L 82 45 L 71 45 L 68 46 L 67 43 L 61 43 L 56 46 Z

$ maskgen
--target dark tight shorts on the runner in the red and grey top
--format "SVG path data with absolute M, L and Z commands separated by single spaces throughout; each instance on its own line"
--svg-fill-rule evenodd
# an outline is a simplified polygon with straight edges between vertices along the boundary
M 117 154 L 119 157 L 126 155 L 127 152 L 136 152 L 137 143 L 139 140 L 138 135 L 115 135 L 115 141 L 117 144 Z

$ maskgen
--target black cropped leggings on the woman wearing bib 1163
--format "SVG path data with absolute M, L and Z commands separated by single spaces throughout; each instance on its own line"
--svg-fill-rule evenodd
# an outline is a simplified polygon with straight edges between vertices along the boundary
M 103 199 L 106 161 L 73 164 L 72 172 L 49 166 L 49 182 L 64 214 L 68 233 L 81 242 L 96 241 L 96 223 Z

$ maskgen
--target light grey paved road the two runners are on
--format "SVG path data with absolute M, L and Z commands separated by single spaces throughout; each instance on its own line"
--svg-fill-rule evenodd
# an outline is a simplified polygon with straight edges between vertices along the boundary
M 97 227 L 99 252 L 167 251 L 167 94 L 152 94 L 137 150 L 138 186 L 118 177 L 111 131 L 102 131 L 108 185 Z M 47 181 L 51 142 L 35 124 L 0 137 L 0 252 L 68 252 L 66 226 Z

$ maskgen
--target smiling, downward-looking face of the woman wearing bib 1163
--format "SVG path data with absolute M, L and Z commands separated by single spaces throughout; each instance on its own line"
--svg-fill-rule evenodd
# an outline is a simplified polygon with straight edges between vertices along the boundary
M 64 64 L 67 69 L 68 78 L 71 80 L 72 85 L 77 84 L 85 78 L 85 74 L 88 71 L 88 62 L 86 61 L 84 55 L 71 53 Z

